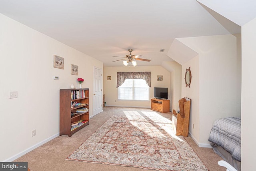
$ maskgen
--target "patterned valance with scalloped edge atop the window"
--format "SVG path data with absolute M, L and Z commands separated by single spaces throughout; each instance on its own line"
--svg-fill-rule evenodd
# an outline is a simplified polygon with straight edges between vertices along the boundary
M 151 72 L 118 72 L 116 88 L 122 85 L 125 79 L 143 79 L 151 87 Z

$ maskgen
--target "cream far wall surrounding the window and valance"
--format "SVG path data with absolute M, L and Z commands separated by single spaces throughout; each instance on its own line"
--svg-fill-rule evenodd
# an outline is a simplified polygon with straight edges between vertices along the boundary
M 103 74 L 103 94 L 107 106 L 127 106 L 127 107 L 149 107 L 148 101 L 118 100 L 118 90 L 116 88 L 117 72 L 151 72 L 150 98 L 154 97 L 154 87 L 170 87 L 170 72 L 162 66 L 136 66 L 136 67 L 104 67 Z M 111 80 L 107 80 L 111 76 Z M 163 81 L 157 81 L 157 76 L 163 76 Z M 168 99 L 170 99 L 170 88 L 168 88 Z

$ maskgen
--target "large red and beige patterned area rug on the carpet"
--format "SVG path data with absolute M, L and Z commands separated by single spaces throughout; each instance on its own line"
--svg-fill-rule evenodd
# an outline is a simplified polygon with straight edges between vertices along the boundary
M 164 171 L 208 171 L 172 121 L 155 112 L 113 115 L 67 160 Z

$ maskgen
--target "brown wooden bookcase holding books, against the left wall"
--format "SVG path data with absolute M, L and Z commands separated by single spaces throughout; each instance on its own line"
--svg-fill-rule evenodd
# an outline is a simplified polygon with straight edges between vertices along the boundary
M 76 95 L 75 95 L 76 94 Z M 84 103 L 78 107 L 71 107 L 71 104 L 76 101 L 77 103 Z M 60 136 L 68 135 L 72 136 L 73 133 L 79 131 L 86 125 L 89 125 L 89 110 L 84 113 L 78 113 L 71 116 L 72 112 L 76 112 L 76 109 L 87 107 L 89 109 L 89 89 L 60 89 Z M 82 124 L 80 127 L 71 131 L 71 123 L 83 120 L 88 121 Z

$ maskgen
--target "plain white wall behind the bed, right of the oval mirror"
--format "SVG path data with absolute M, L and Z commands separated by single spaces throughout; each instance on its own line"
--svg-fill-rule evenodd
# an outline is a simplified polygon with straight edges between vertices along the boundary
M 233 35 L 179 38 L 197 52 L 199 59 L 199 142 L 209 144 L 208 137 L 215 119 L 240 117 L 236 37 Z M 193 80 L 193 78 L 192 78 Z M 194 103 L 193 103 L 194 104 Z

